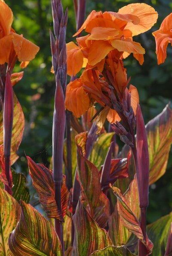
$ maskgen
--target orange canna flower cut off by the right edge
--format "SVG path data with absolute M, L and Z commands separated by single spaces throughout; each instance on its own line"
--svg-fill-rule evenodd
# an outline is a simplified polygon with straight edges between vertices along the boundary
M 172 45 L 172 13 L 162 22 L 160 29 L 152 33 L 156 41 L 156 54 L 158 64 L 166 59 L 166 48 L 169 43 Z

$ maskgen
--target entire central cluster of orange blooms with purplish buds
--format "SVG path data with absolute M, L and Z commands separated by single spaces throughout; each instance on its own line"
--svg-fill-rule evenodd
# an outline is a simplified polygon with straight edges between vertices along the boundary
M 104 120 L 120 121 L 121 115 L 135 115 L 139 97 L 135 86 L 127 85 L 123 59 L 133 54 L 139 63 L 144 62 L 145 50 L 133 36 L 151 29 L 158 14 L 145 3 L 132 3 L 118 13 L 101 11 L 89 14 L 78 32 L 88 34 L 67 44 L 68 75 L 75 76 L 85 67 L 80 78 L 70 82 L 66 92 L 66 108 L 80 117 L 95 102 L 101 105 Z M 132 107 L 132 108 L 131 108 Z M 130 109 L 130 110 L 129 110 Z

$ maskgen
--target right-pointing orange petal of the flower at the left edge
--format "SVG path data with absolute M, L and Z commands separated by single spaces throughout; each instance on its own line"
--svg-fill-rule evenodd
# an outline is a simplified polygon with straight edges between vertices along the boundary
M 30 42 L 22 35 L 12 33 L 13 35 L 13 45 L 15 53 L 17 54 L 19 61 L 31 61 L 35 58 L 35 55 L 39 51 L 39 47 L 34 43 Z

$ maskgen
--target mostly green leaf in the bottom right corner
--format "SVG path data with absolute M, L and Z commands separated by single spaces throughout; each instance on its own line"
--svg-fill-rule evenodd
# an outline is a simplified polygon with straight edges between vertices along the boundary
M 155 256 L 161 256 L 161 243 L 167 242 L 167 236 L 169 233 L 169 227 L 172 222 L 172 212 L 152 224 L 147 225 L 147 235 L 154 243 L 153 254 Z

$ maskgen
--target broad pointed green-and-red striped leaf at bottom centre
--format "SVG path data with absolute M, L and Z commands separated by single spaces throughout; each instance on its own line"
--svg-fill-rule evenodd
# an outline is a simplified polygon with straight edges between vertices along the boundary
M 75 236 L 72 256 L 89 256 L 95 250 L 113 245 L 107 232 L 91 218 L 81 199 L 73 217 Z

